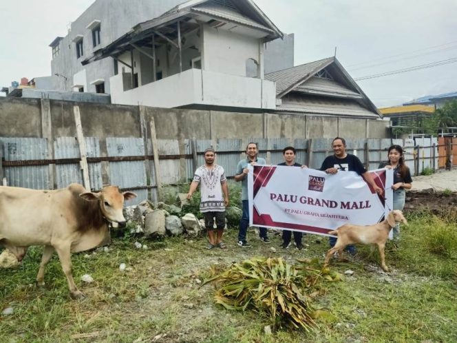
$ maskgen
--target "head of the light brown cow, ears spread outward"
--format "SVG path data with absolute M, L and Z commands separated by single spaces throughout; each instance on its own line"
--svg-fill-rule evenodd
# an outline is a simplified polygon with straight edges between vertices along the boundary
M 125 227 L 125 218 L 123 215 L 124 200 L 136 198 L 136 194 L 131 191 L 121 193 L 117 186 L 103 187 L 102 191 L 92 193 L 87 191 L 80 194 L 81 198 L 87 201 L 100 202 L 100 209 L 103 216 L 109 222 L 117 222 L 120 227 Z

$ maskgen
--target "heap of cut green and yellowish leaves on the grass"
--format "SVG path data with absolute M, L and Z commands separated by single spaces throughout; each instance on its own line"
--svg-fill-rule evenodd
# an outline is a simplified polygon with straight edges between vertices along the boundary
M 317 294 L 317 282 L 340 280 L 341 276 L 319 269 L 316 260 L 299 262 L 302 264 L 293 266 L 283 258 L 253 258 L 225 271 L 213 269 L 204 284 L 215 283 L 215 302 L 226 309 L 265 312 L 274 326 L 310 331 L 315 326 L 310 302 Z

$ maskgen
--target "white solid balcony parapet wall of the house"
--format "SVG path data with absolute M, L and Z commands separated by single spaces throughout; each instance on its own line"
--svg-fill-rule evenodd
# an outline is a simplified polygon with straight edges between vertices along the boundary
M 218 105 L 243 108 L 276 108 L 275 83 L 265 79 L 191 69 L 153 83 L 124 91 L 123 77 L 111 77 L 111 102 L 151 107 Z

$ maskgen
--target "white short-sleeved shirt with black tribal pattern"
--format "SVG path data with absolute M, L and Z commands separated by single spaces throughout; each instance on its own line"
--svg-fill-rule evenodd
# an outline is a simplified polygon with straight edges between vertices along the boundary
M 200 183 L 202 200 L 200 202 L 200 212 L 225 211 L 224 196 L 221 184 L 227 181 L 224 168 L 214 165 L 208 169 L 205 165 L 195 170 L 193 181 Z

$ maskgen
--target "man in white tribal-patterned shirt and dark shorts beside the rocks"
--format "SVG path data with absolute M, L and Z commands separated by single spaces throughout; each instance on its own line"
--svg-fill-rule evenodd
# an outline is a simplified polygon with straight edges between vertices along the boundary
M 224 168 L 216 165 L 214 160 L 215 150 L 209 147 L 204 151 L 204 165 L 195 170 L 187 198 L 190 199 L 200 185 L 202 194 L 200 212 L 204 216 L 204 225 L 209 239 L 206 249 L 214 247 L 225 249 L 227 246 L 222 242 L 222 233 L 225 227 L 225 207 L 229 205 L 229 187 L 227 187 Z M 216 229 L 214 229 L 214 219 Z

